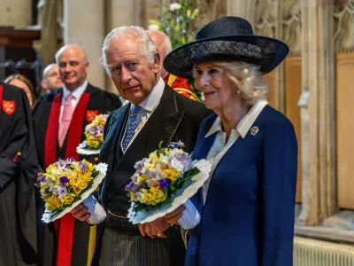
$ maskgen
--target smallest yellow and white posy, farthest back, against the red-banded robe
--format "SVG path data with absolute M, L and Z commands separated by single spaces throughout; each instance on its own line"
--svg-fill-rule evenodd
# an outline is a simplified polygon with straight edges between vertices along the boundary
M 104 143 L 104 125 L 108 114 L 96 115 L 94 121 L 86 126 L 85 137 L 89 148 L 97 149 Z

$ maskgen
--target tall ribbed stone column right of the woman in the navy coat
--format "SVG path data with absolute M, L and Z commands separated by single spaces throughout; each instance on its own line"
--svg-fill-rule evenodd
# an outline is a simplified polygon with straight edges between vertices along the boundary
M 303 201 L 297 222 L 318 225 L 333 215 L 336 207 L 333 5 L 303 0 L 302 13 Z

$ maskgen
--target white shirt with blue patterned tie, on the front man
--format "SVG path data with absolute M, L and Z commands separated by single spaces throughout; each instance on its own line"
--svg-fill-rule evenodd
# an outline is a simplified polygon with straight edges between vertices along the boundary
M 158 80 L 158 83 L 156 84 L 156 86 L 151 90 L 149 96 L 147 98 L 145 98 L 142 103 L 140 103 L 138 106 L 140 106 L 140 110 L 138 113 L 138 116 L 136 118 L 137 120 L 137 127 L 135 129 L 135 135 L 133 137 L 133 139 L 131 140 L 131 142 L 129 143 L 129 145 L 131 143 L 133 143 L 136 135 L 138 135 L 139 131 L 142 129 L 142 127 L 144 126 L 144 124 L 146 123 L 146 121 L 149 120 L 151 113 L 154 112 L 154 110 L 156 109 L 156 107 L 158 106 L 162 94 L 164 93 L 165 90 L 165 82 L 164 80 L 160 77 L 160 79 Z M 130 110 L 129 110 L 129 116 L 130 113 L 132 112 L 132 108 L 135 105 L 131 105 L 130 106 Z M 126 129 L 127 130 L 127 125 L 126 125 Z M 126 132 L 124 132 L 124 135 L 126 135 Z M 124 137 L 123 137 L 124 138 Z M 127 147 L 129 147 L 129 145 Z M 122 147 L 122 144 L 120 143 L 120 146 Z M 124 151 L 123 147 L 122 147 L 122 151 Z

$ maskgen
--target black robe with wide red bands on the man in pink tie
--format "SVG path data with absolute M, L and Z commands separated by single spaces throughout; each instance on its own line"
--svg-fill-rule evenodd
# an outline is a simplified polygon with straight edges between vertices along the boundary
M 71 157 L 75 160 L 85 158 L 96 162 L 97 156 L 80 156 L 76 153 L 76 147 L 85 139 L 84 129 L 96 114 L 112 112 L 121 106 L 119 98 L 112 93 L 88 85 L 75 107 L 65 144 L 59 148 L 58 129 L 62 96 L 62 90 L 58 90 L 40 98 L 35 106 L 35 136 L 43 169 L 58 159 Z M 42 203 L 42 200 L 37 201 Z M 42 230 L 39 239 L 40 265 L 86 266 L 90 262 L 94 251 L 94 241 L 91 240 L 95 239 L 92 233 L 96 227 L 90 228 L 86 223 L 75 221 L 73 215 L 68 214 L 50 224 L 48 228 L 44 225 Z

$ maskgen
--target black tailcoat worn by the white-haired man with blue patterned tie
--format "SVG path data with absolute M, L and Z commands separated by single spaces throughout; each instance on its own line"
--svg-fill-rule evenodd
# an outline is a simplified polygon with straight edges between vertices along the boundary
M 196 101 L 185 98 L 165 85 L 162 98 L 151 113 L 150 118 L 133 142 L 127 148 L 126 153 L 121 152 L 120 143 L 127 124 L 131 104 L 121 107 L 113 112 L 106 122 L 104 130 L 104 145 L 100 153 L 100 160 L 108 163 L 108 171 L 101 191 L 101 204 L 108 212 L 108 223 L 115 223 L 118 231 L 127 234 L 140 234 L 137 226 L 128 223 L 127 219 L 117 216 L 127 216 L 130 207 L 125 185 L 135 172 L 135 162 L 148 157 L 158 148 L 163 141 L 163 146 L 170 142 L 181 142 L 185 145 L 185 151 L 191 153 L 196 145 L 196 137 L 199 126 L 204 118 L 212 112 Z M 114 214 L 115 216 L 110 215 Z M 113 220 L 113 221 L 112 221 Z M 103 226 L 98 229 L 98 243 L 93 265 L 98 264 L 100 235 Z M 181 235 L 179 236 L 181 240 Z M 181 246 L 182 242 L 180 241 Z M 171 246 L 170 246 L 171 247 Z M 184 247 L 182 246 L 184 249 Z M 174 248 L 170 248 L 171 251 Z M 170 254 L 173 260 L 180 259 L 183 264 L 184 250 L 182 254 Z M 181 265 L 173 262 L 174 265 Z

